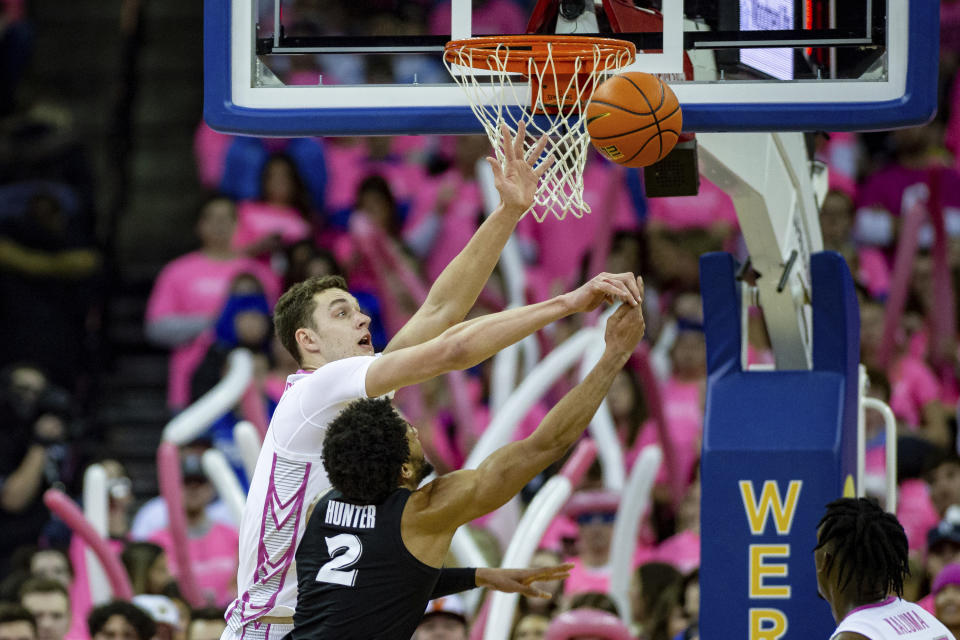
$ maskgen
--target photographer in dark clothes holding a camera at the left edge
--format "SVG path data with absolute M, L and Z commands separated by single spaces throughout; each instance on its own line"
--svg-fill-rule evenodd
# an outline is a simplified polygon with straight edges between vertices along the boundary
M 40 369 L 24 364 L 0 372 L 0 424 L 5 435 L 0 450 L 2 575 L 9 571 L 10 553 L 36 544 L 50 520 L 41 496 L 66 477 L 71 411 L 69 396 L 51 385 Z

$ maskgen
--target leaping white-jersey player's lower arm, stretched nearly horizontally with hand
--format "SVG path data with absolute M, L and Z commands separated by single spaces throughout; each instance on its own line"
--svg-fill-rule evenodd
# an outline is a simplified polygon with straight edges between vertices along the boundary
M 604 300 L 639 307 L 640 296 L 633 274 L 601 273 L 550 300 L 461 322 L 423 344 L 377 358 L 367 370 L 367 395 L 380 396 L 448 371 L 468 369 L 555 320 L 596 309 Z

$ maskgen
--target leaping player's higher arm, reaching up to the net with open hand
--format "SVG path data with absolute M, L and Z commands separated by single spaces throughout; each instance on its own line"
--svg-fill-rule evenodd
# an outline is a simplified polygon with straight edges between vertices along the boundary
M 487 158 L 500 193 L 500 206 L 484 220 L 467 246 L 440 273 L 423 306 L 397 332 L 384 353 L 435 338 L 461 322 L 473 308 L 510 234 L 533 204 L 540 176 L 553 164 L 551 157 L 537 165 L 547 143 L 545 136 L 524 155 L 524 126 L 521 122 L 517 136 L 513 138 L 504 125 L 505 160 L 502 167 L 495 158 Z

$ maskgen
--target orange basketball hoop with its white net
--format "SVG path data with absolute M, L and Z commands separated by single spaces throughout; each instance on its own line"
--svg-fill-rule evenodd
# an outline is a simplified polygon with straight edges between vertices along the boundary
M 626 40 L 584 36 L 490 36 L 448 42 L 443 62 L 466 92 L 497 159 L 503 162 L 505 123 L 513 135 L 526 122 L 529 150 L 540 134 L 546 153 L 556 159 L 547 169 L 531 207 L 537 222 L 568 211 L 577 218 L 590 212 L 583 201 L 583 168 L 590 146 L 583 113 L 595 87 L 636 57 Z M 515 78 L 529 81 L 516 86 Z M 529 108 L 510 109 L 513 105 Z

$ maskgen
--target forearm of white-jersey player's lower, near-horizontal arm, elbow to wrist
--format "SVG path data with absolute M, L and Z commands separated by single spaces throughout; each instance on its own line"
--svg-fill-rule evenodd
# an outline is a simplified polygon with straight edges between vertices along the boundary
M 442 339 L 451 345 L 453 368 L 467 369 L 574 311 L 565 294 L 461 322 Z

